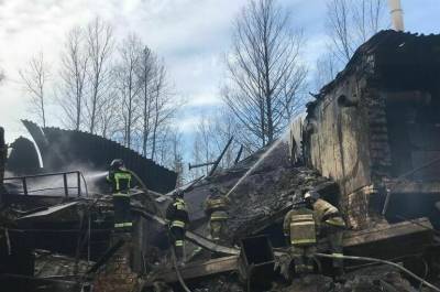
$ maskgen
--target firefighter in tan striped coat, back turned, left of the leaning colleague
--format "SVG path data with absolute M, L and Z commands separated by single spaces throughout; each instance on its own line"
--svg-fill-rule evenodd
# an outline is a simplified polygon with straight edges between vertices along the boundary
M 308 208 L 304 201 L 295 202 L 294 197 L 294 206 L 284 217 L 283 229 L 290 244 L 295 273 L 314 272 L 314 253 L 317 244 L 314 210 Z

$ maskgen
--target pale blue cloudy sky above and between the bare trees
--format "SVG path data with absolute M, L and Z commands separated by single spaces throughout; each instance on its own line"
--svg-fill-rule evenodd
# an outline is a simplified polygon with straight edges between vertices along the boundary
M 385 0 L 384 0 L 385 1 Z M 130 32 L 165 60 L 176 91 L 187 98 L 180 127 L 190 131 L 198 115 L 220 102 L 222 55 L 228 51 L 231 21 L 245 0 L 0 0 L 0 67 L 7 80 L 0 86 L 0 125 L 7 140 L 24 134 L 20 119 L 28 112 L 28 97 L 18 69 L 44 53 L 56 71 L 65 33 L 96 15 L 110 21 L 121 40 Z M 312 69 L 326 43 L 323 0 L 283 0 L 294 23 L 305 31 L 305 62 Z M 440 32 L 440 0 L 403 0 L 406 30 Z M 56 73 L 54 73 L 56 74 Z M 59 125 L 55 116 L 52 125 Z

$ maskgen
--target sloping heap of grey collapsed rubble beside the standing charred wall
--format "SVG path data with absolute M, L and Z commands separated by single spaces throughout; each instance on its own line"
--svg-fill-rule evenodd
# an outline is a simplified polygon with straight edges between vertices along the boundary
M 222 193 L 228 193 L 267 149 L 271 149 L 271 145 L 240 161 L 231 169 L 217 172 L 188 192 L 186 201 L 189 204 L 191 220 L 206 223 L 202 203 L 209 195 L 209 188 L 216 186 Z M 238 244 L 240 238 L 262 231 L 275 223 L 279 224 L 292 206 L 293 197 L 312 188 L 321 193 L 338 192 L 333 182 L 320 176 L 316 171 L 304 166 L 294 167 L 288 158 L 287 143 L 278 143 L 229 195 L 230 244 Z M 205 225 L 200 228 L 199 224 L 196 224 L 196 227 L 197 231 L 205 234 Z

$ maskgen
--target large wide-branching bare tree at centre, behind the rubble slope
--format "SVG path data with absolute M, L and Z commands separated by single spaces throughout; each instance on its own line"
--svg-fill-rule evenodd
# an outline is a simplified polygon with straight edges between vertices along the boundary
M 290 28 L 289 14 L 275 0 L 251 1 L 234 22 L 222 96 L 256 148 L 283 131 L 300 101 L 307 74 L 299 61 L 302 37 Z

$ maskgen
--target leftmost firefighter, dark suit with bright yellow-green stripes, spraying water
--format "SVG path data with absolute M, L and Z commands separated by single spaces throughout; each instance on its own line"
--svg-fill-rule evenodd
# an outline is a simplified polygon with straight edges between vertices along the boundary
M 130 232 L 132 227 L 130 212 L 130 187 L 132 175 L 124 166 L 121 159 L 116 159 L 110 164 L 107 181 L 111 183 L 114 209 L 114 230 Z

